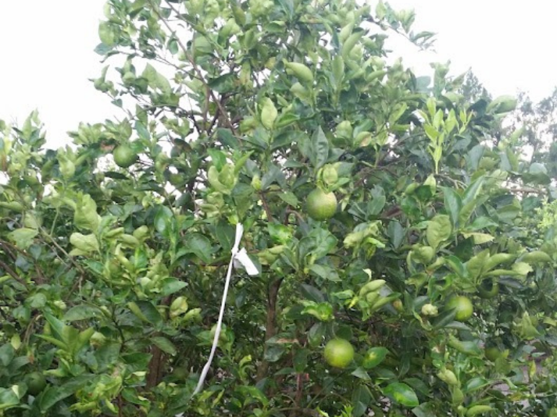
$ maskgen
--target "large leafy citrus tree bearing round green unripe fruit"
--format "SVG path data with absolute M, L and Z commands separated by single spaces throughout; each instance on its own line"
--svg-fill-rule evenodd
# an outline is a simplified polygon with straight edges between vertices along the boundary
M 554 416 L 551 178 L 379 2 L 110 0 L 126 117 L 0 122 L 0 414 Z M 233 273 L 235 226 L 258 275 Z M 194 394 L 213 339 L 207 379 Z

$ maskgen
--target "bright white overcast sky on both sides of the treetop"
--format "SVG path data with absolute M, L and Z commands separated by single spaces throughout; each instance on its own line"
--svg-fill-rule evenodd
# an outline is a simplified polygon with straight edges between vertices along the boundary
M 375 5 L 373 0 L 372 4 Z M 531 92 L 540 99 L 557 85 L 553 43 L 557 3 L 547 0 L 391 0 L 416 10 L 416 31 L 434 31 L 436 51 L 397 49 L 421 69 L 450 59 L 469 67 L 493 95 Z M 0 118 L 22 121 L 38 108 L 49 145 L 67 142 L 79 122 L 120 115 L 88 79 L 100 74 L 97 26 L 104 0 L 4 0 L 0 3 Z

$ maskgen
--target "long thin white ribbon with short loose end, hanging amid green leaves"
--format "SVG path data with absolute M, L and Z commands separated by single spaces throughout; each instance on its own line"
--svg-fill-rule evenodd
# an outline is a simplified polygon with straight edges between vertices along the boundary
M 224 307 L 226 306 L 226 296 L 228 295 L 228 287 L 230 286 L 230 277 L 232 276 L 233 266 L 238 267 L 242 265 L 248 275 L 258 275 L 259 271 L 256 265 L 253 264 L 251 259 L 249 259 L 246 250 L 242 247 L 242 250 L 238 250 L 240 247 L 240 240 L 242 240 L 242 234 L 244 234 L 244 227 L 242 224 L 238 223 L 236 225 L 236 238 L 234 241 L 234 246 L 232 248 L 232 256 L 230 256 L 230 263 L 228 263 L 228 271 L 226 272 L 226 281 L 224 282 L 224 291 L 222 293 L 221 301 L 221 311 L 219 311 L 219 320 L 217 321 L 217 329 L 214 332 L 213 345 L 211 347 L 211 353 L 209 354 L 209 359 L 207 363 L 203 366 L 201 371 L 201 376 L 199 377 L 199 382 L 197 383 L 196 389 L 192 395 L 196 395 L 203 387 L 203 382 L 205 382 L 205 377 L 207 377 L 207 372 L 211 366 L 211 362 L 214 357 L 214 352 L 217 350 L 217 345 L 219 344 L 219 336 L 221 335 L 222 318 L 224 316 Z

